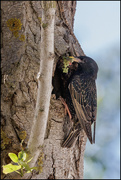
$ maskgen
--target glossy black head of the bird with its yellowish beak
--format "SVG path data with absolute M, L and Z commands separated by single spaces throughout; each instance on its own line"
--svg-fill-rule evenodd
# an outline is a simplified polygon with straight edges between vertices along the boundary
M 89 75 L 94 79 L 97 78 L 98 66 L 92 58 L 87 56 L 72 56 L 71 59 L 72 65 L 74 64 L 76 67 L 76 71 Z

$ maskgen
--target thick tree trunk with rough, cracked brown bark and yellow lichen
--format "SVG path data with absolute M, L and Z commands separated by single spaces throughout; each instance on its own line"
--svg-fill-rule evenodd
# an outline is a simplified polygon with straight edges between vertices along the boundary
M 53 75 L 60 56 L 84 55 L 73 34 L 75 8 L 75 1 L 56 1 Z M 31 127 L 33 127 L 37 89 L 39 88 L 36 77 L 39 65 L 41 65 L 40 59 L 42 60 L 40 51 L 43 37 L 41 37 L 42 7 L 40 1 L 2 1 L 1 9 L 1 145 L 2 164 L 5 165 L 10 163 L 7 156 L 9 152 L 17 154 L 20 151 L 21 134 L 27 134 L 24 141 L 26 145 Z M 22 24 L 21 28 L 14 33 L 6 24 L 11 18 L 19 19 Z M 47 60 L 49 63 L 49 59 Z M 52 78 L 51 72 L 50 79 Z M 65 120 L 61 101 L 56 100 L 52 95 L 46 134 L 45 136 L 43 134 L 44 144 L 36 163 L 36 165 L 40 163 L 40 169 L 43 166 L 43 170 L 40 174 L 33 171 L 29 179 L 83 178 L 83 158 L 87 138 L 82 131 L 72 148 L 62 148 Z M 17 179 L 17 176 L 16 173 L 8 175 L 2 173 L 1 178 Z

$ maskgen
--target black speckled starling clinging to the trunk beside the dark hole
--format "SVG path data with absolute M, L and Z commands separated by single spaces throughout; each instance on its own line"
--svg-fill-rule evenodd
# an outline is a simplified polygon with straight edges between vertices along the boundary
M 87 56 L 73 57 L 68 73 L 63 73 L 62 62 L 57 64 L 55 74 L 58 76 L 53 82 L 60 82 L 54 87 L 57 98 L 63 97 L 69 108 L 74 125 L 68 136 L 62 143 L 62 147 L 70 148 L 83 129 L 90 141 L 95 143 L 95 128 L 97 114 L 97 93 L 95 80 L 98 66 L 96 62 Z M 56 90 L 55 90 L 56 89 Z M 59 91 L 61 89 L 61 91 Z M 91 125 L 94 123 L 92 138 Z

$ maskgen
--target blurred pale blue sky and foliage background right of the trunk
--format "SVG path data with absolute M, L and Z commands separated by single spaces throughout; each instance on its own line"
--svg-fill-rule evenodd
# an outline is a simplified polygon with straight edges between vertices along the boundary
M 77 2 L 76 37 L 99 66 L 96 143 L 87 141 L 84 179 L 120 179 L 119 14 L 120 1 Z

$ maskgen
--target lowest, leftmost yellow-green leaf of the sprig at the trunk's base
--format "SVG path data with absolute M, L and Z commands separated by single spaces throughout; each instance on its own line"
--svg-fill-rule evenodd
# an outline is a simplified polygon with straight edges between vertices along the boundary
M 11 173 L 13 171 L 17 171 L 21 169 L 21 166 L 18 166 L 18 165 L 13 165 L 13 164 L 7 164 L 7 165 L 3 165 L 3 173 L 4 174 L 8 174 L 8 173 Z

